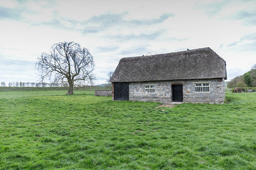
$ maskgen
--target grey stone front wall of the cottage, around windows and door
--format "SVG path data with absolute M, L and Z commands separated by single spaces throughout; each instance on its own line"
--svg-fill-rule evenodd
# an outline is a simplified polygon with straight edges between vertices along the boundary
M 164 82 L 133 82 L 129 86 L 129 97 L 132 101 L 172 102 L 171 84 L 183 84 L 184 103 L 223 103 L 225 99 L 225 80 L 194 79 Z M 195 83 L 209 83 L 210 92 L 195 92 Z M 155 85 L 154 94 L 144 94 L 144 85 Z

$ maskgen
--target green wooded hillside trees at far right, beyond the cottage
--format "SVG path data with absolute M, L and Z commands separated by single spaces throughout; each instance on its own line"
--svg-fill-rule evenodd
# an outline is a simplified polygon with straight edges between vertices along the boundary
M 227 86 L 228 88 L 256 87 L 256 64 L 247 73 L 233 78 Z

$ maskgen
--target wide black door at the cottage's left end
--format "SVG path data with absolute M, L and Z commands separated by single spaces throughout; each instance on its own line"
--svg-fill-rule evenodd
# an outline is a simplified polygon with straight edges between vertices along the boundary
M 114 83 L 114 100 L 129 100 L 129 83 Z

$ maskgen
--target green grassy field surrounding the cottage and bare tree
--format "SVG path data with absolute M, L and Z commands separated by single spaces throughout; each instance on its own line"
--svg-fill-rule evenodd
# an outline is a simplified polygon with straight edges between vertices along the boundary
M 0 169 L 256 169 L 256 93 L 156 108 L 66 92 L 0 92 Z

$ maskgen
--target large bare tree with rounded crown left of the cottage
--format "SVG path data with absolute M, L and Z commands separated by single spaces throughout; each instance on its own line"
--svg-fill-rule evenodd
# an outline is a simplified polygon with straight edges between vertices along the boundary
M 42 53 L 36 62 L 36 68 L 45 78 L 53 82 L 67 82 L 67 95 L 73 94 L 76 83 L 92 84 L 95 79 L 93 56 L 86 48 L 75 42 L 59 42 L 53 44 L 49 53 Z

